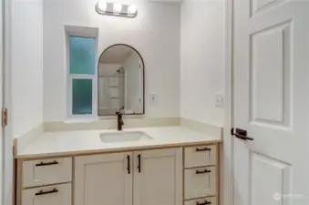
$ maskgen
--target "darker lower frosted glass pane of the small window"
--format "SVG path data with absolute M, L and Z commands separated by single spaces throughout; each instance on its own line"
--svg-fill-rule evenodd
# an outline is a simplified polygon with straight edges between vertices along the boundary
M 92 79 L 73 79 L 73 115 L 92 114 Z

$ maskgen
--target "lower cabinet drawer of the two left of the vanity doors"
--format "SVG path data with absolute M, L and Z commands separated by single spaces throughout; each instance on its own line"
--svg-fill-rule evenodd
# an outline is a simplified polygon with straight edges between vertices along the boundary
M 71 205 L 71 184 L 22 191 L 21 205 Z

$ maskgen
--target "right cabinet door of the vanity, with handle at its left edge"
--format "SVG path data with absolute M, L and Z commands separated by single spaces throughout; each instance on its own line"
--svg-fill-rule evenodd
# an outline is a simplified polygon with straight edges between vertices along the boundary
M 134 205 L 182 204 L 182 149 L 134 152 Z

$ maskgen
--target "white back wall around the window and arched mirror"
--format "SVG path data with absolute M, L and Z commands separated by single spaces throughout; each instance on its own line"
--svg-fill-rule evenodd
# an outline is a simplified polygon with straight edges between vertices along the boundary
M 64 26 L 98 27 L 98 52 L 110 45 L 134 46 L 145 61 L 146 93 L 156 93 L 158 103 L 146 116 L 180 116 L 180 5 L 126 0 L 138 6 L 138 17 L 98 15 L 98 0 L 44 0 L 44 119 L 62 121 L 66 115 Z

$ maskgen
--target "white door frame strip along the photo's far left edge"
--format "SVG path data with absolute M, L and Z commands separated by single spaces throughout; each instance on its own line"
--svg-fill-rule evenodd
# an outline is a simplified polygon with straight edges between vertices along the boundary
M 0 4 L 0 112 L 8 108 L 8 124 L 2 128 L 0 125 L 0 202 L 12 204 L 13 200 L 13 140 L 10 109 L 10 22 L 12 4 L 10 0 L 3 0 Z M 0 119 L 1 120 L 1 119 Z M 1 123 L 0 123 L 1 124 Z

